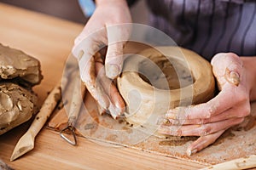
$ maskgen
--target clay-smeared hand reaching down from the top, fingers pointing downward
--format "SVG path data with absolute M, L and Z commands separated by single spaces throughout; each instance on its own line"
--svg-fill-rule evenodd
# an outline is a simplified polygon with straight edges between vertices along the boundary
M 123 47 L 130 36 L 131 14 L 125 0 L 96 0 L 96 11 L 75 40 L 73 55 L 79 60 L 81 79 L 96 99 L 100 110 L 115 118 L 122 114 L 125 102 L 112 79 L 123 65 Z M 96 54 L 108 46 L 105 59 Z M 99 76 L 97 76 L 99 74 Z

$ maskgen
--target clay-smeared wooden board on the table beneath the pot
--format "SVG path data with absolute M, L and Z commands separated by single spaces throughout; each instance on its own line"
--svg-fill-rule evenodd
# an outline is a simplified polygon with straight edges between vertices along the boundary
M 72 83 L 70 85 L 72 86 Z M 67 88 L 66 93 L 63 97 L 67 105 L 49 122 L 49 127 L 56 130 L 61 130 L 67 124 L 68 107 L 71 102 L 65 97 L 72 95 L 72 88 Z M 123 145 L 160 156 L 172 156 L 205 165 L 256 154 L 256 102 L 252 104 L 252 113 L 245 118 L 244 122 L 231 127 L 214 144 L 192 156 L 187 156 L 186 149 L 197 139 L 196 137 L 163 138 L 148 132 L 148 129 L 143 126 L 131 126 L 121 119 L 113 120 L 109 115 L 100 116 L 96 102 L 89 93 L 84 99 L 76 128 L 87 139 Z

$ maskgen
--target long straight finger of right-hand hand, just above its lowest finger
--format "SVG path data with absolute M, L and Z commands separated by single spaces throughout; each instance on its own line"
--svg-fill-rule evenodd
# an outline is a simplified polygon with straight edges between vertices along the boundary
M 174 136 L 205 136 L 239 124 L 243 122 L 243 120 L 244 118 L 233 118 L 221 122 L 212 122 L 202 125 L 161 126 L 159 133 Z

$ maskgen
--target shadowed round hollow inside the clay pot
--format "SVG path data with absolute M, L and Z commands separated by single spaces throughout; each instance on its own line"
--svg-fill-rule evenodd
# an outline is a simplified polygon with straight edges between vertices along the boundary
M 187 67 L 178 60 L 168 59 L 164 55 L 149 56 L 139 64 L 138 69 L 143 81 L 148 82 L 154 88 L 172 90 L 184 88 L 194 82 Z

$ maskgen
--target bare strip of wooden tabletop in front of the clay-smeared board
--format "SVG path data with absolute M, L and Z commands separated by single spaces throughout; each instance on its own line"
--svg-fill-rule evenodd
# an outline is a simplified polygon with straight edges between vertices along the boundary
M 8 161 L 15 133 L 20 129 L 0 137 L 0 152 L 3 161 Z M 44 129 L 35 144 L 34 150 L 20 159 L 9 163 L 17 169 L 193 169 L 201 165 L 180 161 L 166 156 L 157 156 L 147 152 L 125 147 L 114 147 L 96 143 L 93 140 L 79 138 L 79 146 L 74 147 L 60 138 L 59 133 Z

